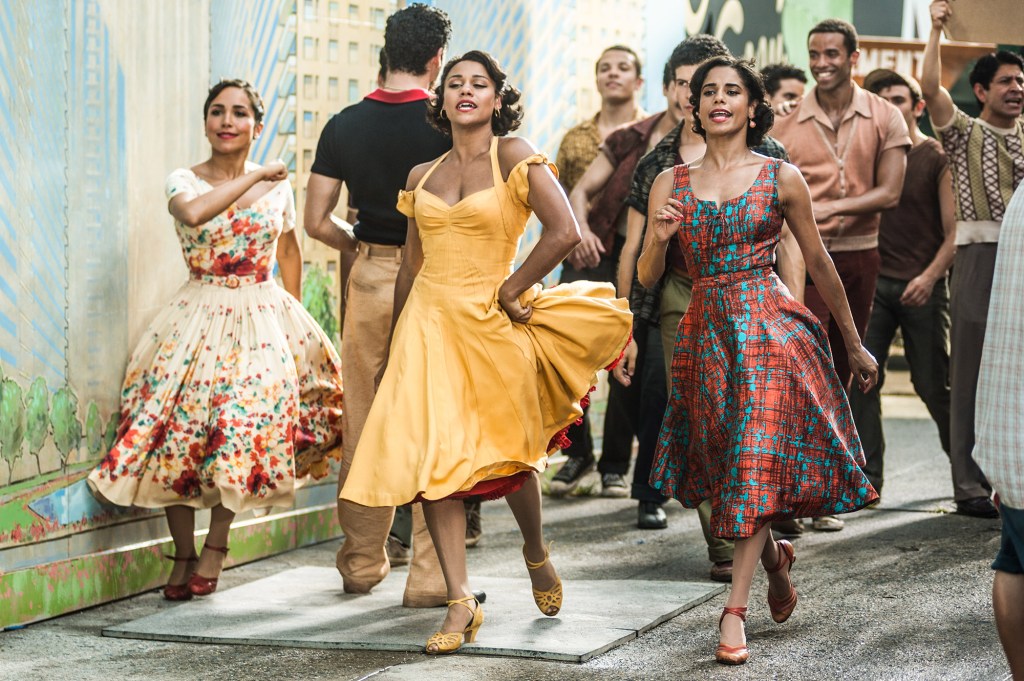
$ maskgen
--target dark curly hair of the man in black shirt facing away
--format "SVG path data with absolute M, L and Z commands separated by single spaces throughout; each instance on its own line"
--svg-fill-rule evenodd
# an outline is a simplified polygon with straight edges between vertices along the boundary
M 414 76 L 427 73 L 427 62 L 447 47 L 452 22 L 440 9 L 415 2 L 387 17 L 384 54 L 389 71 Z

